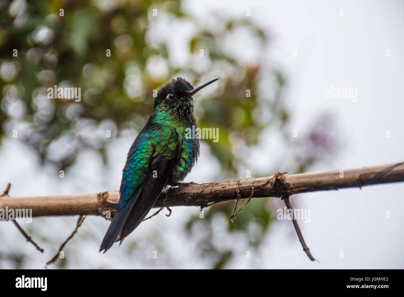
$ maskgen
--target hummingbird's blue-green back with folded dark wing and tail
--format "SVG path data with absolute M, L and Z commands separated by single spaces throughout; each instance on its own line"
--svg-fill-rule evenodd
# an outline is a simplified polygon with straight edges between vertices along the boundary
M 177 140 L 171 127 L 141 133 L 135 139 L 122 175 L 118 211 L 100 251 L 105 253 L 114 242 L 122 242 L 150 211 L 177 162 Z

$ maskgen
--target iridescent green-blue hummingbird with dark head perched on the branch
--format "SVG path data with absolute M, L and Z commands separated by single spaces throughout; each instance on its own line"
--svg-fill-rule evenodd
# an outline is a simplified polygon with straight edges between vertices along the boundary
M 118 209 L 101 242 L 100 252 L 133 232 L 168 185 L 177 186 L 199 156 L 199 139 L 187 135 L 198 128 L 192 98 L 198 88 L 178 77 L 157 92 L 153 113 L 129 149 L 120 185 Z M 189 131 L 189 130 L 187 130 Z

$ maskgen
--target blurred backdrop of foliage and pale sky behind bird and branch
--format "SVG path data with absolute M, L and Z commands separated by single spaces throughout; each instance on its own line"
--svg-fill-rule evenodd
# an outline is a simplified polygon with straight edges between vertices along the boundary
M 0 187 L 11 182 L 15 197 L 117 190 L 154 90 L 178 76 L 194 86 L 220 78 L 194 97 L 199 126 L 219 128 L 219 141 L 201 140 L 185 181 L 401 162 L 403 8 L 391 0 L 1 0 Z M 48 99 L 55 84 L 80 87 L 81 101 Z M 358 101 L 325 99 L 331 85 L 358 88 Z M 276 219 L 282 201 L 260 198 L 242 203 L 240 227 L 229 220 L 234 202 L 204 209 L 204 218 L 197 207 L 164 210 L 105 255 L 109 222 L 87 217 L 48 268 L 404 268 L 403 192 L 396 183 L 293 197 L 310 210 L 300 226 L 321 263 L 309 261 L 290 221 Z M 20 222 L 43 254 L 0 222 L 0 268 L 43 268 L 76 220 Z

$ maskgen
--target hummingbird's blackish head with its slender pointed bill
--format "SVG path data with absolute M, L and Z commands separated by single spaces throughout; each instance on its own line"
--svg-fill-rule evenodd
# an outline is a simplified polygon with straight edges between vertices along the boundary
M 195 89 L 181 77 L 177 77 L 176 80 L 172 79 L 158 90 L 154 101 L 154 110 L 168 112 L 175 118 L 194 122 L 194 99 L 192 96 L 218 79 L 210 80 Z

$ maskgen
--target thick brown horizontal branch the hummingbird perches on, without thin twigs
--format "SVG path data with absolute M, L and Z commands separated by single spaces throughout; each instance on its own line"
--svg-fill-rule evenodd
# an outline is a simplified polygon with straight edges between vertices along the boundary
M 321 173 L 281 174 L 271 177 L 239 179 L 219 183 L 189 184 L 168 189 L 155 208 L 166 206 L 206 206 L 214 202 L 244 198 L 286 197 L 293 194 L 323 190 L 362 187 L 379 183 L 404 181 L 404 163 L 328 171 Z M 252 188 L 254 192 L 250 197 Z M 33 217 L 101 215 L 116 211 L 119 192 L 98 194 L 11 198 L 0 196 L 0 209 L 32 209 Z M 110 215 L 107 217 L 111 217 Z

